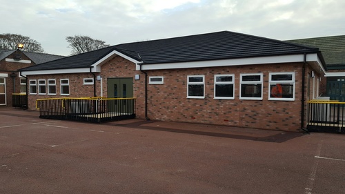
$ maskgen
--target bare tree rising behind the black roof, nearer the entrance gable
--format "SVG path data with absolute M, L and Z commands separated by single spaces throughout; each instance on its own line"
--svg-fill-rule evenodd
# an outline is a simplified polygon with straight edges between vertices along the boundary
M 72 48 L 71 55 L 77 55 L 84 52 L 90 52 L 100 48 L 106 48 L 110 45 L 105 44 L 105 41 L 92 39 L 86 36 L 66 37 L 66 41 L 70 43 L 68 48 Z

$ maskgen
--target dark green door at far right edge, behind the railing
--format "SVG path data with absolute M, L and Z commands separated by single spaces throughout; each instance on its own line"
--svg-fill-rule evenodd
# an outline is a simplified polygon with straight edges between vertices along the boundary
M 327 95 L 332 100 L 345 101 L 345 81 L 327 81 Z

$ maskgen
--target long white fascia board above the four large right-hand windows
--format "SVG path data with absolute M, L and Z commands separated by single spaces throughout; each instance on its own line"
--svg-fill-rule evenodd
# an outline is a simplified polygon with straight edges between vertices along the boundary
M 279 64 L 303 62 L 304 55 L 279 55 L 272 57 L 248 57 L 242 59 L 225 59 L 213 61 L 190 61 L 182 63 L 170 64 L 148 64 L 142 65 L 141 70 L 159 70 L 159 69 L 174 69 L 174 68 L 206 68 L 216 66 L 244 66 L 255 64 Z M 140 65 L 137 64 L 137 70 L 140 70 Z

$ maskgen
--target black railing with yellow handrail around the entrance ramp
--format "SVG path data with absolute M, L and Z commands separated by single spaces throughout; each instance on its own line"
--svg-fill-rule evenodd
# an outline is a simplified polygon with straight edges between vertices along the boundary
M 39 117 L 101 123 L 135 118 L 135 98 L 37 99 Z

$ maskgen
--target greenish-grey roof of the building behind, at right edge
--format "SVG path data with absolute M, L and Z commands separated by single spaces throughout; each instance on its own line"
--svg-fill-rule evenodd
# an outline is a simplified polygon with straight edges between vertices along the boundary
M 345 66 L 345 35 L 295 39 L 287 42 L 319 48 L 327 66 Z

